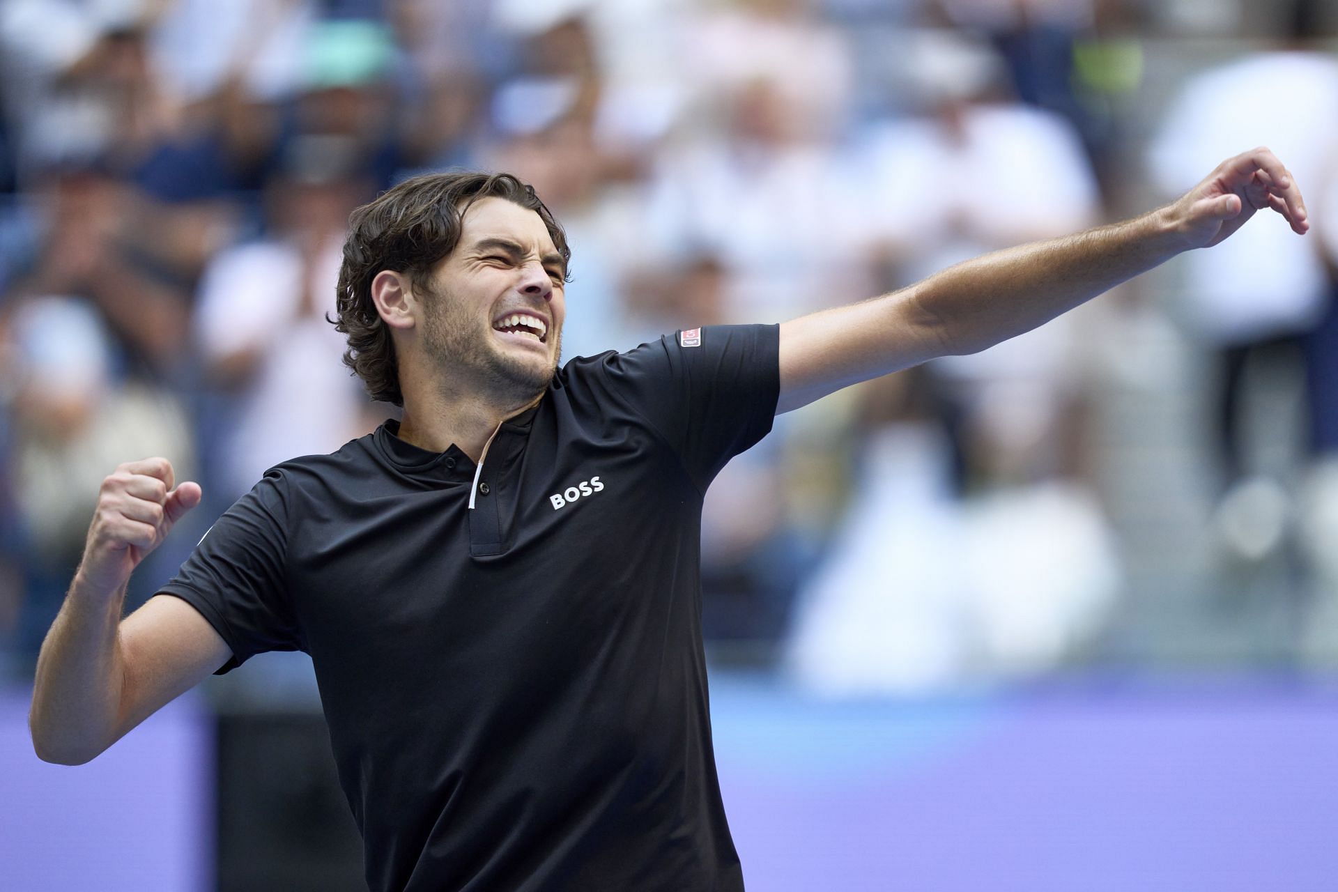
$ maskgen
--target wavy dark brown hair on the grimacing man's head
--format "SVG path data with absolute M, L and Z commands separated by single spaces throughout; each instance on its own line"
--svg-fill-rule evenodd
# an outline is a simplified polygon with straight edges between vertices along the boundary
M 415 290 L 431 294 L 432 269 L 455 250 L 464 211 L 480 198 L 504 198 L 537 211 L 563 262 L 571 259 L 562 226 L 534 187 L 511 174 L 424 174 L 355 210 L 339 270 L 337 318 L 325 318 L 348 336 L 344 365 L 363 378 L 373 400 L 404 405 L 395 342 L 372 301 L 372 280 L 395 270 L 408 275 Z

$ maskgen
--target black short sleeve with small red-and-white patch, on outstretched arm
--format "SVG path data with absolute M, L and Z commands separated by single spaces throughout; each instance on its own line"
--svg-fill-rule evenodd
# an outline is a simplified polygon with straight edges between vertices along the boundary
M 777 325 L 686 329 L 598 362 L 610 395 L 670 444 L 702 492 L 776 417 Z

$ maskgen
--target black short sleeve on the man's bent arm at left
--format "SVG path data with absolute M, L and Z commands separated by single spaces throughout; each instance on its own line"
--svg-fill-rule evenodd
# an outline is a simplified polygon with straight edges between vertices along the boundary
M 270 471 L 205 534 L 158 594 L 181 598 L 233 651 L 215 675 L 268 650 L 301 650 L 285 583 L 288 506 L 281 472 Z

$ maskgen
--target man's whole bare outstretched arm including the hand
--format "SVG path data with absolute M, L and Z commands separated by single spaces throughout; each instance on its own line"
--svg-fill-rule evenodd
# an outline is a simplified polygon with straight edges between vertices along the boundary
M 1216 245 L 1270 207 L 1297 234 L 1310 229 L 1291 174 L 1255 148 L 1135 219 L 985 254 L 892 294 L 784 322 L 776 412 L 1029 332 L 1181 251 Z

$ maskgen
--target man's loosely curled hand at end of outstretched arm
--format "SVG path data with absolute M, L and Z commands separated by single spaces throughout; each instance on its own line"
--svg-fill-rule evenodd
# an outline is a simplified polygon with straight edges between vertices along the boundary
M 1218 164 L 1165 211 L 1185 247 L 1211 247 L 1266 207 L 1282 214 L 1298 235 L 1310 229 L 1297 181 L 1276 155 L 1259 147 Z

